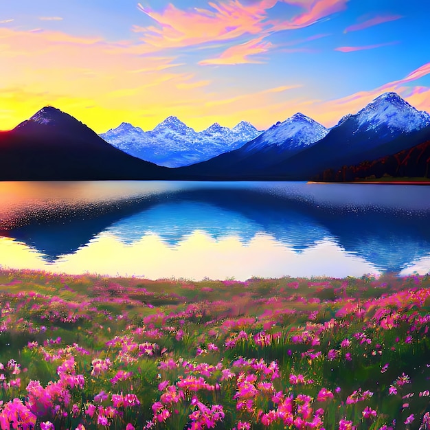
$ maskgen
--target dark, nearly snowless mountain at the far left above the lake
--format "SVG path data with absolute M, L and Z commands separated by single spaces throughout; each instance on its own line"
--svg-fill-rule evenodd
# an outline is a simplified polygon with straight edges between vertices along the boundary
M 51 106 L 0 133 L 2 181 L 169 178 L 170 169 L 127 155 Z

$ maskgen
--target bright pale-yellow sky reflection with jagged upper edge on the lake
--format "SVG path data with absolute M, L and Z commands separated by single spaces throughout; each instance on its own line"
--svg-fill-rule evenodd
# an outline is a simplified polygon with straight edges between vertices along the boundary
M 126 245 L 115 236 L 104 233 L 77 253 L 62 256 L 52 264 L 19 242 L 0 238 L 0 258 L 4 267 L 14 269 L 135 275 L 149 279 L 247 280 L 252 276 L 345 277 L 378 273 L 362 258 L 352 256 L 328 240 L 296 253 L 265 234 L 256 235 L 243 246 L 237 236 L 216 240 L 202 231 L 194 231 L 176 247 L 170 247 L 153 234 Z

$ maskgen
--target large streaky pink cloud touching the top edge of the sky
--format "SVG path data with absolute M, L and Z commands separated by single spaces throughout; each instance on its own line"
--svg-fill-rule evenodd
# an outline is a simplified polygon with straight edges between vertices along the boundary
M 292 19 L 269 20 L 268 11 L 277 3 L 302 8 Z M 137 8 L 155 25 L 135 25 L 142 41 L 152 49 L 227 43 L 238 38 L 267 37 L 282 30 L 307 27 L 346 8 L 348 0 L 244 0 L 210 1 L 209 8 L 181 10 L 170 3 L 161 12 L 138 3 Z M 252 43 L 252 41 L 249 41 Z M 230 53 L 227 52 L 229 55 Z

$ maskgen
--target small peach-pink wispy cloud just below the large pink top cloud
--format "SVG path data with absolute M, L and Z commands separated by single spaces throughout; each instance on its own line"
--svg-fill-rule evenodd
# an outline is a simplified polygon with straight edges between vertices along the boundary
M 246 63 L 264 63 L 264 61 L 255 58 L 258 54 L 264 54 L 273 44 L 263 42 L 262 37 L 252 39 L 249 42 L 241 43 L 227 48 L 220 56 L 202 60 L 199 65 L 237 65 Z

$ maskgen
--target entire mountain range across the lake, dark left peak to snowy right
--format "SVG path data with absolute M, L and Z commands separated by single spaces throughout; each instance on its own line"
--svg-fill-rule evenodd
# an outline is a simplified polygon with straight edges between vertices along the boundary
M 416 161 L 409 156 L 408 176 L 421 175 L 418 164 L 424 166 L 419 172 L 429 176 L 427 152 L 414 148 L 430 141 L 430 115 L 396 93 L 378 96 L 330 129 L 296 113 L 262 133 L 247 122 L 231 130 L 216 123 L 196 133 L 177 117 L 146 133 L 126 123 L 104 137 L 108 133 L 109 139 L 117 139 L 116 148 L 67 113 L 47 106 L 12 131 L 0 133 L 0 180 L 302 181 L 402 151 L 424 154 L 412 157 Z M 127 135 L 131 137 L 124 138 Z M 194 162 L 210 153 L 216 156 Z M 158 163 L 151 162 L 155 159 Z

